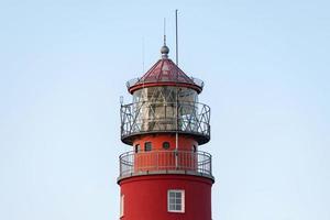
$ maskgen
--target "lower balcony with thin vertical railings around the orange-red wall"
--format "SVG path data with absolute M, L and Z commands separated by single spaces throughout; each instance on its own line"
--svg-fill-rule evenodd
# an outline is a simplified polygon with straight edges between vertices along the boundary
M 195 175 L 215 179 L 211 158 L 211 154 L 201 151 L 127 152 L 119 157 L 118 179 L 157 174 Z

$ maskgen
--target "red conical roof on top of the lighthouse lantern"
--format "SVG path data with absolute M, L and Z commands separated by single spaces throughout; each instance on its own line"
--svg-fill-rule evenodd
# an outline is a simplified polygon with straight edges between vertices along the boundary
M 153 86 L 180 86 L 201 92 L 201 80 L 188 77 L 173 61 L 167 58 L 167 53 L 163 53 L 162 51 L 162 54 L 163 58 L 154 64 L 141 78 L 128 82 L 131 94 L 140 88 Z

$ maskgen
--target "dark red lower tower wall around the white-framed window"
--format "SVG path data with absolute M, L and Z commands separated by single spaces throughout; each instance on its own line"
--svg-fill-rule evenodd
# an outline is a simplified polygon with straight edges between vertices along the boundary
M 189 175 L 145 175 L 119 182 L 124 195 L 121 220 L 211 220 L 212 180 Z M 167 211 L 167 190 L 185 190 L 185 212 Z

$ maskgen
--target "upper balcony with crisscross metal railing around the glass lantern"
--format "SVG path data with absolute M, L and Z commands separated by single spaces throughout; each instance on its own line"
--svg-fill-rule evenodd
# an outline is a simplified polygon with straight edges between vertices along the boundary
M 210 140 L 210 108 L 204 103 L 141 101 L 121 106 L 120 114 L 121 140 L 130 145 L 147 133 L 193 135 L 199 145 Z

